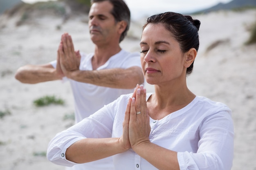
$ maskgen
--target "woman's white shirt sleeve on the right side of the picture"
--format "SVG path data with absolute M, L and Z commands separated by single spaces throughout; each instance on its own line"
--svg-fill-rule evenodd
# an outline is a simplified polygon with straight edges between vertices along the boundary
M 206 117 L 199 130 L 198 151 L 177 153 L 180 170 L 230 170 L 234 154 L 231 111 Z

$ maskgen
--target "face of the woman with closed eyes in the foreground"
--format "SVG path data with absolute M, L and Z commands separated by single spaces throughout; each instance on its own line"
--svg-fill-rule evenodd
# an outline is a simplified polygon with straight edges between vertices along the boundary
M 140 46 L 141 66 L 148 84 L 170 84 L 186 78 L 184 53 L 162 24 L 148 24 Z

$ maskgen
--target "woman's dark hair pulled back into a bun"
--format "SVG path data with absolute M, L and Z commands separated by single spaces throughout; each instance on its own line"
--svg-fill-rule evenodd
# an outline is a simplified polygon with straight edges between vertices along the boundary
M 180 13 L 165 12 L 150 16 L 143 29 L 148 24 L 163 24 L 164 27 L 171 32 L 173 38 L 180 44 L 180 49 L 186 53 L 191 48 L 198 51 L 199 36 L 198 30 L 201 22 L 193 20 L 189 15 L 182 15 Z M 189 75 L 193 71 L 194 62 L 187 68 L 186 74 Z

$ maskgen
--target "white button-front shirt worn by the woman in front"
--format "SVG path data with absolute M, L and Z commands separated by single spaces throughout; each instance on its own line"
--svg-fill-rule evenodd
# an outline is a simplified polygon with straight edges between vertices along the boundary
M 150 95 L 147 94 L 147 99 Z M 73 166 L 76 163 L 66 160 L 65 152 L 74 142 L 84 138 L 120 137 L 130 96 L 120 96 L 90 117 L 58 133 L 48 146 L 49 161 Z M 225 104 L 196 96 L 190 104 L 163 119 L 150 118 L 150 126 L 152 143 L 178 152 L 180 170 L 231 169 L 234 127 L 231 110 Z M 132 149 L 114 155 L 113 161 L 115 170 L 156 170 Z

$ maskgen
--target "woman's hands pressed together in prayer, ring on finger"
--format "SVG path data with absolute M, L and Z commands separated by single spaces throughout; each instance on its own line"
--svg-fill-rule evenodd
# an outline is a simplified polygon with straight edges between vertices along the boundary
M 127 104 L 123 122 L 123 135 L 120 139 L 126 150 L 134 149 L 140 144 L 150 142 L 149 134 L 150 124 L 146 105 L 146 89 L 143 85 L 137 85 Z

